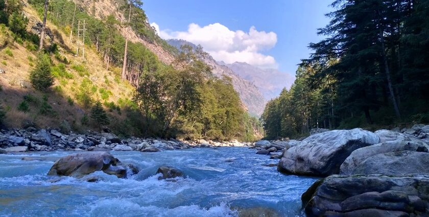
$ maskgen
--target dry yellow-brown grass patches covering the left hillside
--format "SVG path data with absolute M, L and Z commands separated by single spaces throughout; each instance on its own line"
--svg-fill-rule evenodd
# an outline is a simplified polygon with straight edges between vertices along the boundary
M 26 7 L 25 11 L 30 19 L 40 21 L 36 11 L 32 8 Z M 46 26 L 54 32 L 54 42 L 59 45 L 59 53 L 69 61 L 69 64 L 66 64 L 66 70 L 73 74 L 74 78 L 56 78 L 54 86 L 47 92 L 48 102 L 56 112 L 55 115 L 41 115 L 37 106 L 33 105 L 30 105 L 29 112 L 18 111 L 17 106 L 26 94 L 32 94 L 42 99 L 42 93 L 32 88 L 29 81 L 29 72 L 35 64 L 34 61 L 29 59 L 35 60 L 36 52 L 30 52 L 24 45 L 17 42 L 12 42 L 7 47 L 2 47 L 0 50 L 0 68 L 5 69 L 6 74 L 0 74 L 0 85 L 3 89 L 0 91 L 0 102 L 7 110 L 6 125 L 7 127 L 20 127 L 23 120 L 32 120 L 39 127 L 58 127 L 62 120 L 65 119 L 73 125 L 75 130 L 91 128 L 90 126 L 83 127 L 80 123 L 83 114 L 89 112 L 89 109 L 83 108 L 76 101 L 76 89 L 84 77 L 80 76 L 78 71 L 72 69 L 74 65 L 83 65 L 88 69 L 89 76 L 87 78 L 92 81 L 94 86 L 97 86 L 97 92 L 93 94 L 93 99 L 101 100 L 99 89 L 104 88 L 112 92 L 107 101 L 117 104 L 121 98 L 130 99 L 134 88 L 128 82 L 120 79 L 120 69 L 109 68 L 109 70 L 106 70 L 106 65 L 103 63 L 102 58 L 94 49 L 85 47 L 85 60 L 82 60 L 81 57 L 75 57 L 72 50 L 75 51 L 76 47 L 73 42 L 69 43 L 68 34 L 58 30 L 49 21 L 47 21 Z M 7 33 L 1 32 L 0 37 L 7 37 L 5 34 Z M 11 39 L 9 40 L 11 41 Z M 45 41 L 47 42 L 47 40 Z M 6 54 L 7 49 L 12 52 L 12 57 Z M 51 59 L 54 64 L 59 63 L 53 56 Z M 69 105 L 67 96 L 74 99 L 74 105 Z M 118 114 L 117 111 L 108 113 L 111 119 L 121 120 L 125 118 L 124 112 L 122 112 L 122 115 Z

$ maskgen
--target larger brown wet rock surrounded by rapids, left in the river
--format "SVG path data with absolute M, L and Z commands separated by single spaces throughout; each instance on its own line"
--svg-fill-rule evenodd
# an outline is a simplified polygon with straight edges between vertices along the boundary
M 96 171 L 103 171 L 119 178 L 126 177 L 127 170 L 122 166 L 117 166 L 117 163 L 118 159 L 108 152 L 83 152 L 60 158 L 47 175 L 80 178 Z

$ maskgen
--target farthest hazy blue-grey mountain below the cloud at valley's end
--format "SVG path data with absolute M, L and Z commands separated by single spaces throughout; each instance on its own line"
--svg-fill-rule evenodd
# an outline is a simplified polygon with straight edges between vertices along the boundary
M 286 87 L 291 88 L 295 76 L 277 69 L 261 69 L 245 62 L 226 64 L 240 77 L 252 82 L 263 93 L 265 99 L 273 99 Z

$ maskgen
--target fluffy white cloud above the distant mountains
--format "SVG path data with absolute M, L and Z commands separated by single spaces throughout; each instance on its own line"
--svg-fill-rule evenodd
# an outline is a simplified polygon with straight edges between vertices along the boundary
M 190 23 L 185 32 L 160 30 L 155 22 L 151 23 L 151 26 L 163 39 L 183 39 L 201 44 L 216 60 L 225 63 L 247 62 L 259 67 L 277 68 L 274 57 L 261 53 L 277 43 L 277 35 L 274 32 L 259 32 L 255 27 L 251 27 L 248 32 L 231 31 L 220 23 L 204 27 Z

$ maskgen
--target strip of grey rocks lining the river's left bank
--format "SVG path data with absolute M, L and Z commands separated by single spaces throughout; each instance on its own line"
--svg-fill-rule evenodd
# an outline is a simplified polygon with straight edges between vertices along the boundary
M 10 129 L 0 131 L 0 153 L 27 151 L 142 151 L 252 147 L 252 142 L 212 141 L 200 139 L 186 141 L 162 138 L 120 138 L 113 133 L 88 131 L 85 134 L 61 133 L 59 129 Z

